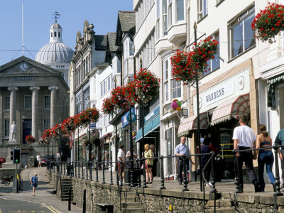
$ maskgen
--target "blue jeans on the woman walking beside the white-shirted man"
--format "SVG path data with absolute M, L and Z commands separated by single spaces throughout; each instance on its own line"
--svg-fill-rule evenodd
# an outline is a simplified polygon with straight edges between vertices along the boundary
M 261 150 L 258 153 L 258 183 L 261 186 L 261 190 L 264 190 L 265 183 L 263 179 L 264 173 L 264 164 L 266 164 L 266 173 L 268 175 L 269 180 L 274 185 L 275 178 L 272 173 L 272 167 L 274 163 L 273 153 L 272 151 L 264 151 Z

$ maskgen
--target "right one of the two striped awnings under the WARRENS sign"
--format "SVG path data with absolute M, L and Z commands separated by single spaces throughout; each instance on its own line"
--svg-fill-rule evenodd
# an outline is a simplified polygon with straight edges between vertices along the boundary
M 232 117 L 238 119 L 239 116 L 243 114 L 248 115 L 249 112 L 249 94 L 234 97 L 233 99 L 227 100 L 214 109 L 211 125 L 230 120 Z

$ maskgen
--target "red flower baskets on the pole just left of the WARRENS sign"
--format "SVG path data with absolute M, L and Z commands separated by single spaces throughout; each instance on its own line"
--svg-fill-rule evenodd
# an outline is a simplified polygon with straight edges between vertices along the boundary
M 170 58 L 173 67 L 172 75 L 176 80 L 190 84 L 195 81 L 195 74 L 207 72 L 207 61 L 214 58 L 218 44 L 217 40 L 211 39 L 209 36 L 195 43 L 190 53 L 177 50 L 177 53 Z

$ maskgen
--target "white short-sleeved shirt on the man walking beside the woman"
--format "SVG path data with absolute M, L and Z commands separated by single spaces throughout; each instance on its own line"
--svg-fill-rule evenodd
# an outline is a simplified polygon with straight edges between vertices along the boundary
M 242 125 L 234 129 L 233 140 L 238 139 L 238 146 L 253 148 L 253 141 L 256 141 L 256 135 L 249 126 Z

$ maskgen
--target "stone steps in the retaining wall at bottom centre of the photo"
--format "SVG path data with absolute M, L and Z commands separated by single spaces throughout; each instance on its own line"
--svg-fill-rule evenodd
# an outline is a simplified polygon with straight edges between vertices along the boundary
M 143 206 L 139 202 L 135 192 L 128 192 L 121 197 L 121 212 L 144 213 Z

